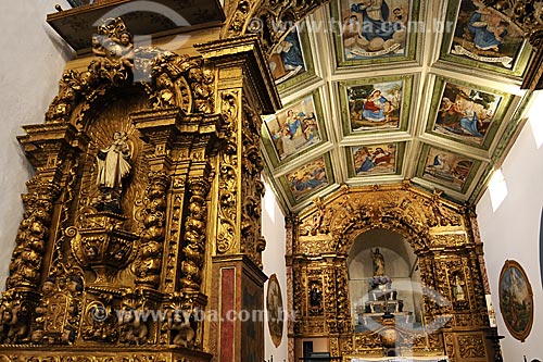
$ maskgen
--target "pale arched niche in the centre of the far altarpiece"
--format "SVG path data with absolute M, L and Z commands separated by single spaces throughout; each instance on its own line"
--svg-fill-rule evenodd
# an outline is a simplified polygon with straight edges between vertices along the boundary
M 377 249 L 383 257 L 386 275 L 392 280 L 389 288 L 394 291 L 392 297 L 395 300 L 389 308 L 397 312 L 399 324 L 413 327 L 420 323 L 422 302 L 418 257 L 401 233 L 375 228 L 353 240 L 346 259 L 354 330 L 366 330 L 368 319 L 380 313 L 380 310 L 370 308 L 370 294 L 375 290 L 370 285 L 374 277 L 371 255 Z M 400 301 L 396 308 L 394 304 Z

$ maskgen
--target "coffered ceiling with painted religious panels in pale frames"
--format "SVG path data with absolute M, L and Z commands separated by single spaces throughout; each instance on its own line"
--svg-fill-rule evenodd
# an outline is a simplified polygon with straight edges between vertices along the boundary
M 263 153 L 279 202 L 404 179 L 476 202 L 523 124 L 531 51 L 475 0 L 332 0 L 270 59 L 285 108 L 264 117 Z

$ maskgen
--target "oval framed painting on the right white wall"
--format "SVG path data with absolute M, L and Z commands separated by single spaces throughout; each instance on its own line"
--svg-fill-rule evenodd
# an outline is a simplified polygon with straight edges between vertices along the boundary
M 500 273 L 500 311 L 510 335 L 525 341 L 533 324 L 533 294 L 520 264 L 506 260 Z

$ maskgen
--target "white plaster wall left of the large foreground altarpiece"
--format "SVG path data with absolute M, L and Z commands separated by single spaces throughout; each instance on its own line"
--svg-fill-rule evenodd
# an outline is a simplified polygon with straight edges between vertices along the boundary
M 23 214 L 21 194 L 31 167 L 16 136 L 22 125 L 43 123 L 71 50 L 46 23 L 46 14 L 64 9 L 64 0 L 2 0 L 0 23 L 0 289 Z

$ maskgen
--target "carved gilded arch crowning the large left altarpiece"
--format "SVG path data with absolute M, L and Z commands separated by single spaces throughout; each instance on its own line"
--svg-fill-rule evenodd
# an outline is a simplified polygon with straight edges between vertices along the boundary
M 80 128 L 85 112 L 97 99 L 131 82 L 141 83 L 155 110 L 178 107 L 186 113 L 214 112 L 214 72 L 201 58 L 154 48 L 135 49 L 119 18 L 106 20 L 99 27 L 93 53 L 96 58 L 85 72 L 64 73 L 46 123 L 72 122 Z M 81 107 L 81 102 L 87 105 Z

